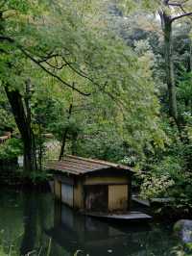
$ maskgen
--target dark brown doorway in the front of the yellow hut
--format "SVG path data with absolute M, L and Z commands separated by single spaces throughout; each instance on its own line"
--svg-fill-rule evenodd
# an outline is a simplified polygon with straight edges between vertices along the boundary
M 85 209 L 93 212 L 108 212 L 108 186 L 84 186 Z

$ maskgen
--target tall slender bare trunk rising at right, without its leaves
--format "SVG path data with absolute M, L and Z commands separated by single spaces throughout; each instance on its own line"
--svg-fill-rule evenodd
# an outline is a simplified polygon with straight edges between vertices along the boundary
M 172 56 L 172 20 L 171 17 L 166 13 L 161 13 L 160 17 L 164 35 L 164 58 L 166 68 L 166 83 L 169 97 L 169 114 L 174 118 L 176 123 L 179 124 L 174 64 Z

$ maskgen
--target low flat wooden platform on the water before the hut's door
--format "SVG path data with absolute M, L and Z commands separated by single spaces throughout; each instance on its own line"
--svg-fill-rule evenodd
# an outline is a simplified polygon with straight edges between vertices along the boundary
M 84 213 L 85 216 L 93 218 L 103 218 L 106 220 L 123 220 L 123 221 L 142 221 L 152 220 L 152 217 L 141 212 L 128 212 L 126 214 L 97 214 L 97 213 Z

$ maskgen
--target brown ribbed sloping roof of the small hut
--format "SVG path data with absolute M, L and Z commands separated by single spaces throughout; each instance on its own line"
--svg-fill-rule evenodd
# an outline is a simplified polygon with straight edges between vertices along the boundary
M 61 161 L 51 160 L 46 165 L 47 169 L 60 170 L 61 172 L 68 172 L 75 175 L 83 175 L 91 171 L 108 169 L 111 167 L 132 171 L 132 168 L 129 166 L 122 166 L 106 161 L 87 159 L 71 155 L 64 156 Z

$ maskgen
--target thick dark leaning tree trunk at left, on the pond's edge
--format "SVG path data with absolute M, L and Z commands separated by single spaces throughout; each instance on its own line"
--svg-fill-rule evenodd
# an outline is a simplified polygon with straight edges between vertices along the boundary
M 34 133 L 25 113 L 22 97 L 18 90 L 9 90 L 5 87 L 6 94 L 12 107 L 16 125 L 21 134 L 24 145 L 24 171 L 28 175 L 31 171 L 36 170 L 36 142 Z

